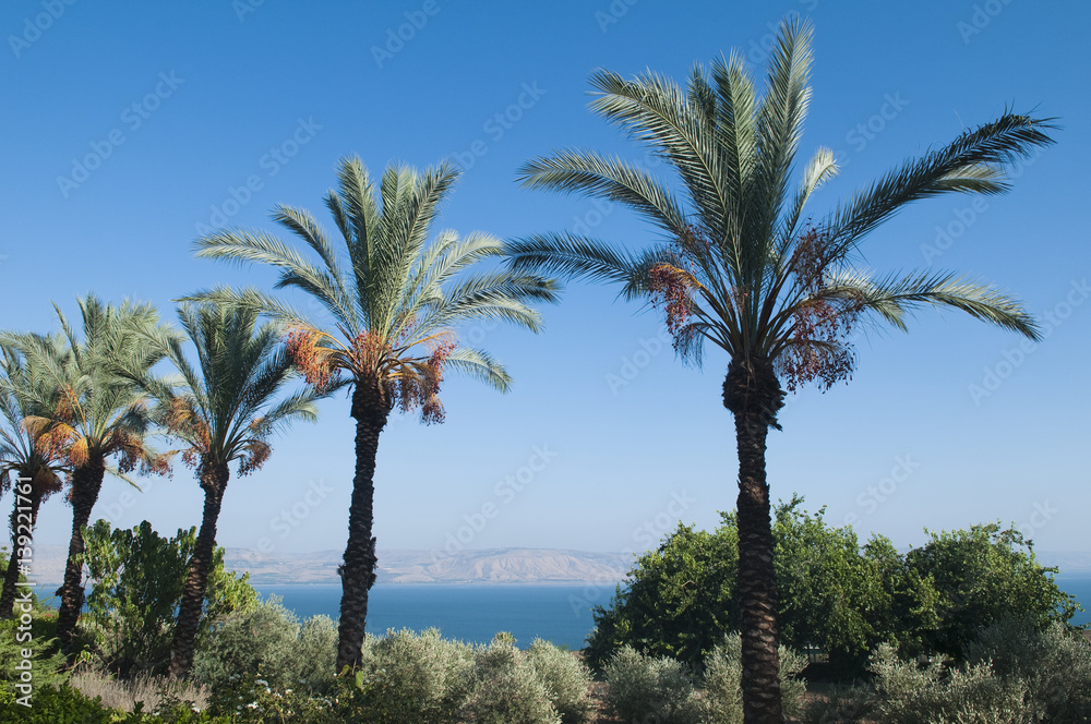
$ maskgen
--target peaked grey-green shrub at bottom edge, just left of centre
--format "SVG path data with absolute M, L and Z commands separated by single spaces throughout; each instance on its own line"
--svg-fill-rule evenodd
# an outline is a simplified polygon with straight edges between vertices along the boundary
M 561 724 L 549 690 L 511 636 L 477 652 L 460 714 L 467 724 Z

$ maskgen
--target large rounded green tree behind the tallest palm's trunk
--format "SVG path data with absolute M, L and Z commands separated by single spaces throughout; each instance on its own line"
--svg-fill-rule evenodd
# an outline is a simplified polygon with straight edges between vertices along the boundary
M 838 667 L 861 667 L 870 648 L 889 636 L 873 618 L 889 605 L 882 570 L 862 555 L 851 528 L 831 528 L 823 510 L 810 514 L 802 504 L 796 496 L 775 510 L 782 638 L 796 649 L 827 651 Z M 679 526 L 636 562 L 630 577 L 609 607 L 594 612 L 591 662 L 602 666 L 627 644 L 699 666 L 742 625 L 738 516 L 723 514 L 715 532 Z

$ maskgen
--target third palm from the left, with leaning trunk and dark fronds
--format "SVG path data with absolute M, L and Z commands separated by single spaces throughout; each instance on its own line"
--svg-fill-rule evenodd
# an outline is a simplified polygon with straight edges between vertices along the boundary
M 279 326 L 257 327 L 257 316 L 253 309 L 182 304 L 178 318 L 196 348 L 197 365 L 187 360 L 182 339 L 161 334 L 154 343 L 180 373 L 180 387 L 140 371 L 133 375 L 158 400 L 153 417 L 184 445 L 182 461 L 196 469 L 205 496 L 171 643 L 173 678 L 185 677 L 193 663 L 228 466 L 238 462 L 240 476 L 259 470 L 272 454 L 268 438 L 275 432 L 296 420 L 317 419 L 311 389 L 281 396 L 296 372 Z

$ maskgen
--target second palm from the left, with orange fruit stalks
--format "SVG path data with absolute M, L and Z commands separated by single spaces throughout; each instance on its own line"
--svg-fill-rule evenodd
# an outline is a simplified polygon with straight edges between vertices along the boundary
M 105 474 L 111 472 L 132 483 L 127 473 L 137 466 L 141 473 L 165 474 L 170 470 L 167 456 L 145 444 L 151 426 L 145 396 L 117 373 L 119 369 L 146 370 L 161 359 L 163 353 L 146 342 L 146 335 L 153 334 L 148 330 L 158 324 L 158 315 L 149 304 L 125 301 L 115 307 L 94 294 L 79 303 L 82 341 L 56 304 L 67 342 L 63 348 L 35 334 L 8 334 L 3 338 L 26 358 L 27 364 L 40 366 L 41 374 L 51 378 L 51 399 L 40 400 L 48 407 L 43 414 L 27 418 L 26 424 L 32 434 L 44 433 L 50 449 L 72 467 L 72 536 L 57 614 L 57 637 L 65 651 L 71 651 L 83 606 L 83 529 L 98 500 Z M 116 458 L 116 468 L 108 466 L 108 458 Z

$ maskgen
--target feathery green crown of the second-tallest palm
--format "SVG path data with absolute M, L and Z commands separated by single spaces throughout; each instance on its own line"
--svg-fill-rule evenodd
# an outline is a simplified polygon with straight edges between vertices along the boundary
M 556 285 L 532 273 L 469 274 L 475 264 L 504 254 L 504 244 L 488 234 L 459 239 L 441 231 L 429 243 L 458 177 L 448 162 L 423 171 L 389 167 L 376 184 L 358 158 L 343 159 L 337 189 L 325 197 L 344 242 L 340 252 L 307 212 L 281 205 L 274 216 L 303 240 L 316 262 L 265 232 L 227 230 L 196 241 L 200 256 L 279 267 L 277 288 L 309 295 L 333 315 L 334 329 L 322 329 L 288 303 L 255 289 L 216 288 L 183 299 L 237 305 L 277 319 L 290 330 L 293 354 L 307 358 L 308 381 L 315 385 L 337 388 L 397 377 L 399 386 L 384 389 L 413 396 L 417 383 L 406 379 L 439 378 L 430 365 L 454 360 L 453 369 L 483 374 L 506 389 L 506 375 L 489 358 L 452 347 L 453 327 L 493 318 L 537 330 L 541 317 L 530 304 L 556 301 Z M 332 370 L 344 370 L 348 377 L 331 375 Z M 431 389 L 431 383 L 425 386 Z

